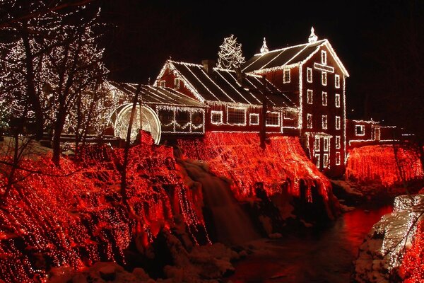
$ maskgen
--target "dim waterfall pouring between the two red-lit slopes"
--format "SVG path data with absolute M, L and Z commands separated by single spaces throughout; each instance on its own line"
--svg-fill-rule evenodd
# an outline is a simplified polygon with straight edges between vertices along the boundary
M 201 183 L 204 202 L 211 209 L 217 240 L 238 245 L 260 238 L 247 213 L 232 195 L 230 185 L 206 171 L 201 163 L 180 161 L 192 180 Z

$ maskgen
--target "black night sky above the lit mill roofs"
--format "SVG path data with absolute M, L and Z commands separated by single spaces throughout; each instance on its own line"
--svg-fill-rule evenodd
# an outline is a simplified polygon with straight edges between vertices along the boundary
M 169 57 L 192 63 L 216 59 L 230 34 L 249 59 L 259 52 L 264 36 L 270 50 L 297 45 L 307 42 L 313 25 L 351 74 L 348 111 L 355 109 L 351 114 L 360 117 L 370 75 L 375 78 L 381 68 L 376 54 L 387 42 L 388 29 L 406 11 L 404 1 L 106 0 L 107 67 L 112 79 L 148 83 Z

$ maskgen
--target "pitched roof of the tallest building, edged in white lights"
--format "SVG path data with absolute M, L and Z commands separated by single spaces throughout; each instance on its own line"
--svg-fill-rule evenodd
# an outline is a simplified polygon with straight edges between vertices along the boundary
M 254 57 L 249 59 L 242 67 L 242 71 L 247 73 L 261 73 L 264 71 L 271 71 L 281 67 L 293 67 L 295 64 L 303 64 L 307 62 L 319 48 L 325 45 L 330 51 L 331 55 L 336 60 L 338 67 L 345 76 L 349 76 L 348 71 L 338 59 L 336 52 L 331 47 L 328 40 L 318 40 L 317 42 L 305 43 L 302 45 L 295 45 L 285 47 L 278 50 L 271 50 L 269 52 L 255 54 Z

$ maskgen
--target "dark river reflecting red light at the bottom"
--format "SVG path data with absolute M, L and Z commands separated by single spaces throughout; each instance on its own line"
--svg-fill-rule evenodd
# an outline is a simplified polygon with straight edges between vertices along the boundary
M 321 229 L 252 242 L 254 253 L 235 264 L 226 282 L 350 282 L 352 262 L 373 224 L 391 206 L 358 208 Z

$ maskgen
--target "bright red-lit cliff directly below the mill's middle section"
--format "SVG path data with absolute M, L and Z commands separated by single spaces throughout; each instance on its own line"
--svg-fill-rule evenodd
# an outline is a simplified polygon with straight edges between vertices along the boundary
M 207 132 L 204 139 L 180 139 L 187 158 L 205 161 L 211 171 L 232 180 L 237 199 L 254 195 L 257 183 L 264 183 L 268 195 L 288 192 L 299 197 L 301 184 L 312 202 L 312 187 L 328 203 L 331 183 L 305 156 L 298 137 L 271 137 L 266 149 L 259 146 L 258 134 Z

